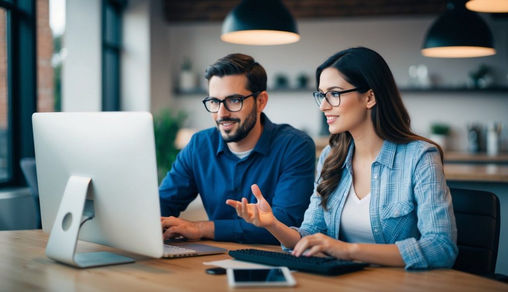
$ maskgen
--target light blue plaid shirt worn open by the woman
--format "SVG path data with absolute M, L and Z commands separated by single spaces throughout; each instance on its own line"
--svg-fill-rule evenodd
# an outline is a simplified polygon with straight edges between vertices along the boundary
M 354 143 L 342 166 L 342 179 L 328 201 L 328 211 L 321 207 L 314 182 L 302 226 L 294 228 L 302 236 L 321 232 L 339 238 L 342 208 L 353 180 L 353 148 Z M 329 153 L 327 146 L 319 159 L 316 178 Z M 370 192 L 370 222 L 376 243 L 395 243 L 406 269 L 453 266 L 458 253 L 457 227 L 450 189 L 433 144 L 385 140 L 372 163 Z

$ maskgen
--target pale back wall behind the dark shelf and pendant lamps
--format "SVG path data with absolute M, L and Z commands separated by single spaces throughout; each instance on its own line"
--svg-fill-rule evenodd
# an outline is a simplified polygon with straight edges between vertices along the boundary
M 365 46 L 380 53 L 390 65 L 399 86 L 409 84 L 410 65 L 426 64 L 429 73 L 441 86 L 463 86 L 468 72 L 481 63 L 494 68 L 495 82 L 508 86 L 508 20 L 492 20 L 486 17 L 496 42 L 497 54 L 490 57 L 466 59 L 437 59 L 423 57 L 420 47 L 426 30 L 435 17 L 376 17 L 342 18 L 341 20 L 298 21 L 302 36 L 300 42 L 282 46 L 242 46 L 220 41 L 221 23 L 177 24 L 168 26 L 172 82 L 177 84 L 180 65 L 185 56 L 193 61 L 193 70 L 202 77 L 207 65 L 229 53 L 245 53 L 257 59 L 267 70 L 268 86 L 272 87 L 278 72 L 290 77 L 294 85 L 296 76 L 306 72 L 313 76 L 317 65 L 333 53 L 354 46 Z M 153 68 L 152 68 L 153 70 Z M 309 93 L 272 92 L 265 112 L 277 123 L 289 123 L 305 129 L 311 135 L 320 130 L 320 112 Z M 205 112 L 201 95 L 174 97 L 172 106 L 190 113 L 188 126 L 207 128 L 213 126 Z M 412 117 L 417 133 L 428 135 L 431 122 L 445 122 L 452 126 L 452 149 L 466 150 L 466 124 L 468 122 L 501 121 L 508 125 L 508 96 L 506 93 L 404 93 L 404 102 Z M 508 148 L 508 130 L 503 131 L 504 149 Z

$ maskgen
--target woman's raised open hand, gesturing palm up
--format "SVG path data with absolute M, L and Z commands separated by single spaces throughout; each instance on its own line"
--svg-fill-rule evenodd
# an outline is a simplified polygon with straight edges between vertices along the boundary
M 261 194 L 258 185 L 250 187 L 252 193 L 258 199 L 256 204 L 247 203 L 247 199 L 242 198 L 242 201 L 227 200 L 226 204 L 236 209 L 238 216 L 242 217 L 246 222 L 253 224 L 257 227 L 271 227 L 275 224 L 275 216 L 272 212 L 272 207 L 265 200 Z

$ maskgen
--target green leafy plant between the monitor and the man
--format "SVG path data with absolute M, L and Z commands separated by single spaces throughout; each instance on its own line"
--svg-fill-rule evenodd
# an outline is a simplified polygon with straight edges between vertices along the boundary
M 159 183 L 171 169 L 179 152 L 175 147 L 175 139 L 186 117 L 187 114 L 182 111 L 174 114 L 167 108 L 162 109 L 158 115 L 153 117 Z

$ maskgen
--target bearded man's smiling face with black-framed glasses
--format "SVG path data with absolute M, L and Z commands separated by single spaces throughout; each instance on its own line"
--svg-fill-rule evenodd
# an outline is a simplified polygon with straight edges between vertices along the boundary
M 210 97 L 225 99 L 250 95 L 252 92 L 245 88 L 246 84 L 247 77 L 244 74 L 213 76 L 208 85 Z M 224 141 L 239 142 L 247 136 L 258 120 L 256 99 L 249 97 L 243 100 L 243 106 L 239 112 L 230 112 L 224 103 L 221 103 L 219 111 L 211 115 Z

